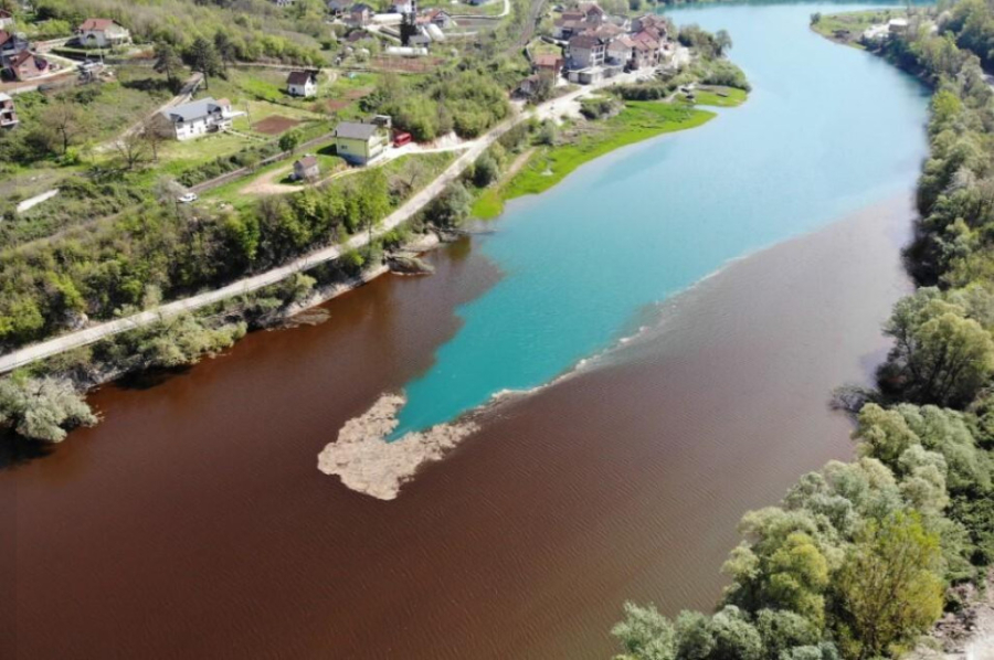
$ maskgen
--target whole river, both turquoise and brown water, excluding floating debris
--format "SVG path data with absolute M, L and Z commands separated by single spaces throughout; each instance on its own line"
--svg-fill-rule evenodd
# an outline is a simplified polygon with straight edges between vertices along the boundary
M 910 286 L 927 97 L 810 33 L 819 10 L 674 12 L 731 32 L 747 105 L 515 202 L 432 277 L 97 392 L 98 427 L 0 473 L 0 648 L 595 659 L 626 598 L 712 605 L 741 514 L 852 455 L 828 394 L 867 381 Z M 408 391 L 409 428 L 451 419 L 639 326 L 394 501 L 315 468 L 383 392 Z

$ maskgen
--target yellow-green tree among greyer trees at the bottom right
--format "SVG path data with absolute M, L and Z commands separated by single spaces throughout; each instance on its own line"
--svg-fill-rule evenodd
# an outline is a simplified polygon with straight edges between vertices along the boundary
M 897 654 L 942 614 L 939 536 L 917 514 L 868 521 L 838 578 L 839 637 L 853 658 Z

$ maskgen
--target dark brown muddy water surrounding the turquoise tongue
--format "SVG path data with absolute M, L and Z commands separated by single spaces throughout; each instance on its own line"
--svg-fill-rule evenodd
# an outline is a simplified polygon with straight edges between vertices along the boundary
M 103 424 L 0 472 L 0 654 L 610 657 L 625 599 L 710 607 L 742 513 L 852 455 L 828 395 L 886 350 L 910 217 L 898 200 L 730 265 L 598 368 L 485 415 L 392 502 L 317 454 L 499 276 L 466 245 L 321 326 L 105 387 Z

